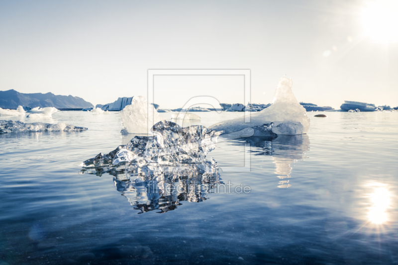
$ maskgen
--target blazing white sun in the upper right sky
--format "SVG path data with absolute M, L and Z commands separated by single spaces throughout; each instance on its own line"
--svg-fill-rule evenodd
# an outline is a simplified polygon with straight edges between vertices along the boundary
M 398 0 L 373 0 L 363 8 L 366 36 L 378 43 L 398 42 Z

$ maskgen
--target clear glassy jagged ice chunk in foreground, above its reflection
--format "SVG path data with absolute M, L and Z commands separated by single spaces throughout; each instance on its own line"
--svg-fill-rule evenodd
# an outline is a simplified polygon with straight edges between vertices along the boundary
M 127 145 L 118 146 L 112 152 L 100 153 L 82 163 L 85 168 L 108 167 L 131 163 L 140 167 L 155 165 L 169 167 L 180 164 L 206 163 L 222 132 L 209 131 L 204 126 L 181 127 L 171 121 L 156 123 L 153 136 L 135 136 Z

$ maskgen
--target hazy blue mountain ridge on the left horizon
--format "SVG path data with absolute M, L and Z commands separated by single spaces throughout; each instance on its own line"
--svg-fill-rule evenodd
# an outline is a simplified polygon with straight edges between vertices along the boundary
M 53 93 L 20 93 L 14 89 L 0 91 L 0 107 L 16 109 L 19 105 L 29 107 L 88 108 L 94 107 L 81 97 L 54 95 Z

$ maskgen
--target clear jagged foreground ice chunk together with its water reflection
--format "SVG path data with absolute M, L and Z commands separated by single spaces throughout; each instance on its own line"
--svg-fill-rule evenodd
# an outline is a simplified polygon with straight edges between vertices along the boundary
M 222 183 L 217 163 L 206 160 L 221 132 L 171 121 L 158 122 L 151 132 L 153 136 L 135 136 L 127 145 L 83 162 L 81 172 L 113 175 L 116 189 L 141 212 L 164 213 L 179 201 L 203 201 Z

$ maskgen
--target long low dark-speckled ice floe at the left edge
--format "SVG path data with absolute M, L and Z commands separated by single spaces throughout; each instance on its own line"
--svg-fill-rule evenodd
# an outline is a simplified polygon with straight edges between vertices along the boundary
M 24 123 L 21 121 L 0 120 L 0 134 L 12 133 L 12 132 L 61 132 L 61 131 L 80 132 L 85 130 L 87 130 L 87 128 L 76 127 L 66 123 L 58 123 L 58 124 L 42 123 L 42 122 Z

